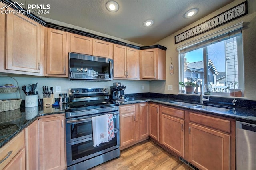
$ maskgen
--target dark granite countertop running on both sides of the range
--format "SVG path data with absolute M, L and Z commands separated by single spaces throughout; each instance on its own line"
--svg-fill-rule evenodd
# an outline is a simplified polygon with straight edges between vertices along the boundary
M 256 109 L 255 108 L 246 108 L 238 107 L 233 105 L 228 105 L 232 108 L 228 112 L 218 112 L 218 111 L 206 111 L 198 110 L 189 107 L 182 107 L 173 105 L 169 102 L 176 101 L 176 98 L 168 97 L 128 97 L 127 101 L 120 103 L 120 106 L 125 104 L 135 104 L 142 102 L 153 102 L 156 104 L 162 104 L 166 106 L 172 106 L 180 109 L 186 109 L 194 112 L 203 112 L 211 115 L 222 116 L 226 118 L 233 118 L 238 121 L 248 122 L 251 124 L 256 124 Z M 206 104 L 212 106 L 211 104 Z M 226 105 L 221 105 L 226 106 Z M 7 112 L 0 112 L 0 148 L 9 142 L 14 136 L 21 132 L 24 128 L 28 127 L 34 120 L 40 118 L 40 116 L 50 115 L 50 114 L 63 114 L 65 113 L 65 106 L 61 108 L 59 106 L 55 107 L 33 107 L 33 108 L 24 108 L 21 107 L 16 110 L 10 110 Z

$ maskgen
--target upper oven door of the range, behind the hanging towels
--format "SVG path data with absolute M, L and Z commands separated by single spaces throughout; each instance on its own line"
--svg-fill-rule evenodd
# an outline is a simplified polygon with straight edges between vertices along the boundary
M 114 130 L 119 130 L 119 112 L 111 112 L 114 120 Z M 110 113 L 104 113 L 110 114 Z M 100 116 L 98 114 L 94 116 Z M 92 137 L 92 116 L 66 119 L 66 143 Z

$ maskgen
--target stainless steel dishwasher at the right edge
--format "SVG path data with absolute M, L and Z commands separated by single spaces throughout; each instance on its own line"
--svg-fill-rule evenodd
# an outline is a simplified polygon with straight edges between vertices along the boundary
M 256 170 L 256 125 L 236 121 L 236 169 Z

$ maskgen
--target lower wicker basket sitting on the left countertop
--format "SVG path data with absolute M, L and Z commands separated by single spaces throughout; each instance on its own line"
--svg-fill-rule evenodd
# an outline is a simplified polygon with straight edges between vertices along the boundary
M 0 100 L 0 112 L 20 108 L 21 99 Z

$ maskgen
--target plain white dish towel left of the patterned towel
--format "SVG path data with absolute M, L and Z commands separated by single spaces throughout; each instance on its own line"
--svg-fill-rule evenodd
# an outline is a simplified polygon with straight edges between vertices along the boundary
M 108 142 L 108 115 L 92 117 L 93 146 Z

